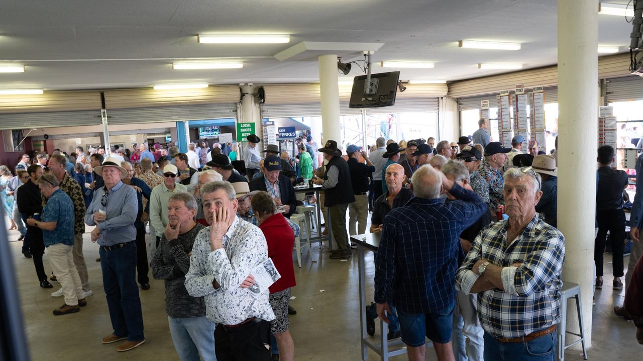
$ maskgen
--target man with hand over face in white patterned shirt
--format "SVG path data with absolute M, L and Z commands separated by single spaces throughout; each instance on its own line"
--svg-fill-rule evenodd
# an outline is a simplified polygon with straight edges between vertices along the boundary
M 210 227 L 199 232 L 185 276 L 192 297 L 204 297 L 206 317 L 217 323 L 215 352 L 221 360 L 270 358 L 270 321 L 275 313 L 269 293 L 253 295 L 249 276 L 268 257 L 266 238 L 255 225 L 237 217 L 237 199 L 229 182 L 201 188 Z

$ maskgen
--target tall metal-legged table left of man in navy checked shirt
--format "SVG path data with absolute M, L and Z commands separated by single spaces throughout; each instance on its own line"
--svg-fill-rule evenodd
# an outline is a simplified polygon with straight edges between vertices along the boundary
M 368 336 L 366 332 L 366 306 L 367 306 L 367 295 L 366 295 L 366 264 L 364 261 L 364 250 L 368 249 L 377 252 L 377 247 L 379 247 L 379 233 L 367 233 L 367 234 L 357 234 L 355 236 L 350 236 L 350 240 L 358 245 L 358 265 L 359 265 L 359 329 L 360 333 L 360 346 L 362 360 L 367 360 L 368 352 L 367 348 L 372 349 L 379 355 L 382 361 L 388 361 L 389 357 L 404 355 L 406 353 L 406 345 L 402 342 L 402 339 L 395 339 L 389 341 L 386 337 L 388 335 L 388 324 L 379 320 L 379 342 L 374 342 Z M 426 347 L 433 347 L 433 343 L 429 340 L 426 341 Z M 394 348 L 394 349 L 389 349 Z

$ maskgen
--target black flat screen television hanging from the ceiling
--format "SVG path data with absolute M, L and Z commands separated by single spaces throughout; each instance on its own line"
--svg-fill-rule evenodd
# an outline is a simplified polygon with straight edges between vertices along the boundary
M 359 75 L 353 79 L 349 108 L 377 108 L 395 104 L 400 72 L 377 73 L 370 75 L 370 78 L 374 85 L 372 94 L 364 94 L 366 75 Z

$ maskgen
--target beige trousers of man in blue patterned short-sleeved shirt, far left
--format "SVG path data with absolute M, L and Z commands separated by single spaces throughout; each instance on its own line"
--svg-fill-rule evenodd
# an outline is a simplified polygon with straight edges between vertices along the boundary
M 62 294 L 65 296 L 65 304 L 76 306 L 78 299 L 83 299 L 82 285 L 74 257 L 72 255 L 73 246 L 56 243 L 44 249 L 44 253 L 49 258 L 51 271 L 58 279 L 62 287 Z

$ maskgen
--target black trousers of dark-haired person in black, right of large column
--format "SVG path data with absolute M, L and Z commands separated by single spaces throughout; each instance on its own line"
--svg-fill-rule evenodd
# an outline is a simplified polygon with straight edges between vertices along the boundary
M 623 248 L 625 247 L 625 212 L 622 209 L 616 209 L 615 211 L 596 211 L 596 220 L 599 224 L 599 233 L 594 243 L 596 276 L 602 277 L 603 275 L 603 252 L 605 252 L 607 233 L 610 231 L 614 277 L 622 277 Z

